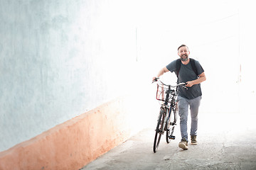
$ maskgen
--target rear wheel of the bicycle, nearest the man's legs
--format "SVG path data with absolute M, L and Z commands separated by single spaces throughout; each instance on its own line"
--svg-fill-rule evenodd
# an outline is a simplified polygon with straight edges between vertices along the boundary
M 176 125 L 176 110 L 174 108 L 170 108 L 170 117 L 167 124 L 167 130 L 166 130 L 166 142 L 171 142 L 170 136 L 174 135 L 174 128 Z

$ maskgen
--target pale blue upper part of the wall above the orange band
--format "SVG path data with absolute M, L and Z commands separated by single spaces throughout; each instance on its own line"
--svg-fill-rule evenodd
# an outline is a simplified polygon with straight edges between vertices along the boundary
M 0 1 L 0 152 L 126 93 L 136 28 L 116 3 Z

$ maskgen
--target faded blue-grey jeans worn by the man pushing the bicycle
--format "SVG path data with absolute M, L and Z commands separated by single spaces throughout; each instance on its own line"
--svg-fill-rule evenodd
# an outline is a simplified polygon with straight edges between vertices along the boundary
M 200 106 L 202 96 L 191 100 L 178 96 L 178 115 L 180 116 L 181 138 L 188 142 L 188 106 L 191 111 L 191 133 L 197 135 L 198 130 L 198 108 Z

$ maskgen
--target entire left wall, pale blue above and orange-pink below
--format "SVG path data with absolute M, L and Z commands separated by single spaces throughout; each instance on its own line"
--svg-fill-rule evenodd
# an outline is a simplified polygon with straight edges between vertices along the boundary
M 80 169 L 144 127 L 127 4 L 0 1 L 1 170 Z

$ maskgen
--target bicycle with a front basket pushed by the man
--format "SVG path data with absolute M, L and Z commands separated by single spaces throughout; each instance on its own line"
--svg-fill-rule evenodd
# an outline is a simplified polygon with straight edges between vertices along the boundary
M 152 83 L 160 81 L 159 78 L 156 78 Z M 166 142 L 169 144 L 171 140 L 175 140 L 174 128 L 176 126 L 177 120 L 177 91 L 178 86 L 183 86 L 186 88 L 186 83 L 179 83 L 176 85 L 167 85 L 160 81 L 161 84 L 157 84 L 156 89 L 156 100 L 163 101 L 161 104 L 159 117 L 157 118 L 156 124 L 156 134 L 154 137 L 154 146 L 153 151 L 156 153 L 159 143 L 161 140 L 161 135 L 164 135 L 166 131 Z M 186 88 L 187 89 L 187 88 Z M 165 96 L 164 96 L 165 95 Z

